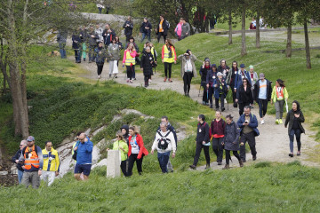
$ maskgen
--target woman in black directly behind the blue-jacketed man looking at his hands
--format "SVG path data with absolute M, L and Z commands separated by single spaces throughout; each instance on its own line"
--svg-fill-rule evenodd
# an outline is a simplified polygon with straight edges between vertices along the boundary
M 252 98 L 252 86 L 247 78 L 243 79 L 243 84 L 236 90 L 236 103 L 239 104 L 239 114 L 244 114 L 244 106 L 250 106 L 253 104 Z

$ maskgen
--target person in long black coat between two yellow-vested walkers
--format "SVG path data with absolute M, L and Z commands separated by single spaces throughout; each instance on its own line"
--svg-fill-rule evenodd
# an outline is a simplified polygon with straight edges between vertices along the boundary
M 140 67 L 143 71 L 145 87 L 148 87 L 148 80 L 152 74 L 152 68 L 155 65 L 155 59 L 151 53 L 150 47 L 146 47 L 145 51 L 142 52 Z

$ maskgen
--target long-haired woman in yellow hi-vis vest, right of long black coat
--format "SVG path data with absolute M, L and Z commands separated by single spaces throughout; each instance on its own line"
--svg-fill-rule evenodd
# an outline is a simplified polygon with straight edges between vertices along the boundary
M 172 75 L 172 64 L 177 63 L 177 54 L 174 48 L 174 45 L 170 39 L 165 40 L 165 44 L 162 49 L 162 61 L 164 63 L 164 82 L 166 82 L 169 71 L 169 80 L 168 82 L 172 83 L 171 75 Z

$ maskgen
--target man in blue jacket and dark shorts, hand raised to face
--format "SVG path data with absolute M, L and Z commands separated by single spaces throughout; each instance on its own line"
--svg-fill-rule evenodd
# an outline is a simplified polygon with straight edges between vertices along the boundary
M 92 167 L 92 149 L 93 144 L 84 133 L 79 136 L 80 143 L 74 148 L 76 151 L 75 177 L 82 180 L 80 175 L 84 172 L 84 180 L 89 178 Z

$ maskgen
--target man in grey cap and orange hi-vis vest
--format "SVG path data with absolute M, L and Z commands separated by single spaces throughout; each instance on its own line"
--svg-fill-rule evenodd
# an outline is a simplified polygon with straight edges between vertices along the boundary
M 27 188 L 30 184 L 33 188 L 38 188 L 44 158 L 41 148 L 35 145 L 35 138 L 33 136 L 27 138 L 27 146 L 22 149 L 19 160 L 23 162 L 22 169 L 24 170 L 21 184 L 26 185 Z

